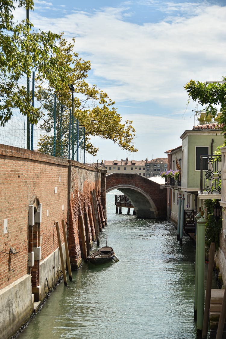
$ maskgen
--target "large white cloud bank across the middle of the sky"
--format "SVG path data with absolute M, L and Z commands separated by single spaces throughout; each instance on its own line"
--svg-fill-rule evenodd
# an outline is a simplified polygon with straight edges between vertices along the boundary
M 116 82 L 104 88 L 116 101 L 185 101 L 183 86 L 225 73 L 226 6 L 177 5 L 192 17 L 138 25 L 123 21 L 122 8 L 93 14 L 76 12 L 57 19 L 34 15 L 42 29 L 76 37 L 76 50 L 89 55 L 96 77 Z M 168 12 L 174 11 L 170 3 Z M 130 12 L 129 12 L 130 13 Z

